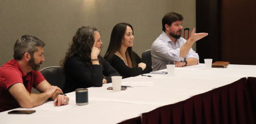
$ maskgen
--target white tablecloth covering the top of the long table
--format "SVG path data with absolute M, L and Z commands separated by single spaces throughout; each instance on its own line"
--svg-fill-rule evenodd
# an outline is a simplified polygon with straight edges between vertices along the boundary
M 228 68 L 210 70 L 205 70 L 203 64 L 175 68 L 174 77 L 165 75 L 158 79 L 138 76 L 122 80 L 153 82 L 153 86 L 134 86 L 121 92 L 113 92 L 107 90 L 112 86 L 111 83 L 104 84 L 100 88 L 88 88 L 88 105 L 75 106 L 63 111 L 36 110 L 36 113 L 31 115 L 11 115 L 4 111 L 0 113 L 0 123 L 118 123 L 138 117 L 159 106 L 174 104 L 196 94 L 230 84 L 242 77 L 256 77 L 256 65 L 229 65 Z M 70 98 L 69 104 L 76 105 L 75 92 L 67 95 Z

